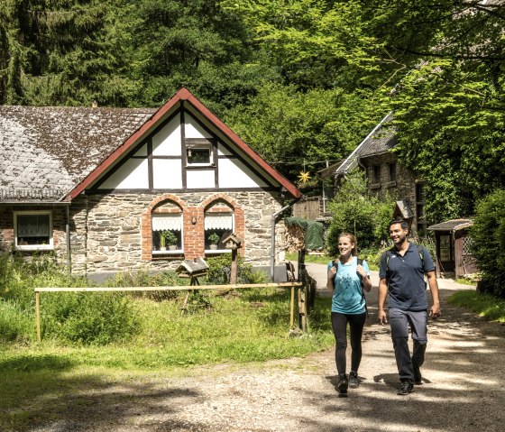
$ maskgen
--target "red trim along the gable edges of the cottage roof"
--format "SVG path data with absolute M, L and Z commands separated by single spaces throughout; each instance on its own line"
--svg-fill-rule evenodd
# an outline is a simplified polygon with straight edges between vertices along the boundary
M 217 129 L 225 134 L 232 142 L 234 142 L 244 153 L 246 153 L 253 161 L 255 161 L 263 170 L 268 172 L 271 177 L 277 180 L 280 185 L 286 188 L 289 193 L 294 198 L 301 197 L 301 192 L 295 187 L 288 179 L 280 174 L 277 170 L 274 170 L 262 157 L 253 151 L 245 142 L 243 142 L 238 135 L 236 135 L 228 126 L 226 126 L 221 120 L 219 120 L 216 115 L 214 115 L 207 106 L 204 106 L 197 97 L 194 97 L 191 92 L 185 87 L 179 89 L 179 91 L 170 98 L 170 100 L 154 114 L 152 117 L 135 132 L 133 133 L 123 144 L 121 144 L 115 152 L 112 152 L 105 161 L 96 167 L 91 173 L 89 173 L 86 179 L 83 179 L 76 188 L 70 190 L 69 194 L 64 201 L 69 201 L 76 198 L 80 193 L 82 193 L 89 185 L 91 185 L 104 171 L 106 171 L 115 161 L 117 161 L 124 152 L 131 149 L 134 143 L 138 142 L 142 136 L 149 133 L 149 131 L 156 125 L 161 118 L 170 111 L 170 109 L 179 103 L 179 101 L 187 100 L 192 106 L 194 106 L 197 111 L 202 115 L 207 117 L 207 119 L 214 124 Z

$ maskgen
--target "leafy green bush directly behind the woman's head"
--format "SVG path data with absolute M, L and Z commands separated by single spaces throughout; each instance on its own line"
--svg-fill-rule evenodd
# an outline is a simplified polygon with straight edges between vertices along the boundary
M 354 170 L 342 182 L 329 208 L 332 220 L 326 235 L 327 250 L 338 254 L 338 236 L 351 233 L 358 239 L 358 250 L 387 239 L 393 201 L 370 196 L 361 170 Z

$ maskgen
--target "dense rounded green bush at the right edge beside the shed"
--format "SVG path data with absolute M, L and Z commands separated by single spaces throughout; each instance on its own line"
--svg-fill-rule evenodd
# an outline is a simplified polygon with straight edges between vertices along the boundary
M 505 298 L 505 189 L 496 190 L 477 206 L 471 228 L 473 255 L 482 271 L 479 287 Z

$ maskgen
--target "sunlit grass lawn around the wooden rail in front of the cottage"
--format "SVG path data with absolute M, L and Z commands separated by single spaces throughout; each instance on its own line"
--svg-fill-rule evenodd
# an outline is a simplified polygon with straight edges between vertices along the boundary
M 180 310 L 184 294 L 160 302 L 133 299 L 140 325 L 123 343 L 64 345 L 46 336 L 41 344 L 0 346 L 0 430 L 29 430 L 36 418 L 49 415 L 43 407 L 51 400 L 108 381 L 179 375 L 194 365 L 304 356 L 334 345 L 330 299 L 317 299 L 310 335 L 290 337 L 289 290 L 240 290 L 228 296 L 201 292 L 210 307 L 195 298 L 185 314 Z M 50 295 L 41 295 L 42 310 L 44 296 Z

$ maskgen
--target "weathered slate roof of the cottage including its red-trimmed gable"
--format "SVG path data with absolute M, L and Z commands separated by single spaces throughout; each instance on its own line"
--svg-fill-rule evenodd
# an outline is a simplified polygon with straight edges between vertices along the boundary
M 0 202 L 69 201 L 188 104 L 295 198 L 301 192 L 186 88 L 160 109 L 0 106 Z

